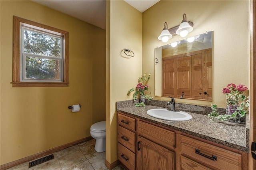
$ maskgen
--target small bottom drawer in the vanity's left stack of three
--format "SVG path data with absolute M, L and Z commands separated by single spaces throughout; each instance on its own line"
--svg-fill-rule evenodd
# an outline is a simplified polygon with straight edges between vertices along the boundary
M 120 143 L 118 143 L 118 160 L 128 170 L 135 170 L 135 154 Z

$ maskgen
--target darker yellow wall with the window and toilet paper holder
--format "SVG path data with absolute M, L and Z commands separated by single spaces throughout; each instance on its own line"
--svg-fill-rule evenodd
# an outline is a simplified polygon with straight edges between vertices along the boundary
M 105 120 L 105 30 L 32 1 L 0 1 L 1 162 L 90 136 Z M 12 16 L 69 32 L 69 87 L 12 87 Z M 69 105 L 80 104 L 72 113 Z

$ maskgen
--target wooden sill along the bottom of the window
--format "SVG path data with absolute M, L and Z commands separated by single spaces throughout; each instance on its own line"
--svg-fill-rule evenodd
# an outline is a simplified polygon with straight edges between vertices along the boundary
M 68 82 L 12 82 L 12 87 L 68 87 Z

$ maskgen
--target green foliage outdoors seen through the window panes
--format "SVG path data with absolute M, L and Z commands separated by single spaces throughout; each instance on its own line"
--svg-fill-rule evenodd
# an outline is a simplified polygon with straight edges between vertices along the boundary
M 24 29 L 26 78 L 60 79 L 61 38 Z M 47 57 L 45 57 L 47 56 Z

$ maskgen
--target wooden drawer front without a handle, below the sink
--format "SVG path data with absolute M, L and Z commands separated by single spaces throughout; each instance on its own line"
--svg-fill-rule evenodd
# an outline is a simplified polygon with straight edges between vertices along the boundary
M 166 148 L 174 149 L 175 132 L 142 121 L 138 122 L 138 134 Z

